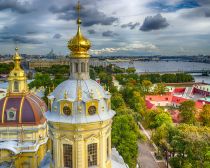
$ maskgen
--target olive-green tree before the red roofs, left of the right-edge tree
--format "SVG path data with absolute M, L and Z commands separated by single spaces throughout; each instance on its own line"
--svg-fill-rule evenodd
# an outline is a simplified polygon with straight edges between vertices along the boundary
M 185 101 L 181 103 L 179 107 L 180 115 L 182 118 L 182 122 L 186 124 L 194 124 L 195 123 L 195 102 L 192 100 Z

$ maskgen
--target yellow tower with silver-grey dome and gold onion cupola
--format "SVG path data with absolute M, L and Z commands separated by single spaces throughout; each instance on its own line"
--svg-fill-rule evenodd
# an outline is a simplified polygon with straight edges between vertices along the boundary
M 80 11 L 80 4 L 77 6 Z M 68 43 L 70 78 L 49 96 L 46 113 L 54 168 L 124 168 L 112 159 L 111 110 L 109 92 L 89 77 L 91 43 L 80 30 Z

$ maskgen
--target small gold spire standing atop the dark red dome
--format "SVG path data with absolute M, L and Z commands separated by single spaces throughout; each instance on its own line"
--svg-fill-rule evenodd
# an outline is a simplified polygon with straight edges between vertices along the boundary
M 14 68 L 8 77 L 8 94 L 25 94 L 28 92 L 27 77 L 20 63 L 22 57 L 18 53 L 18 48 L 15 48 L 15 54 L 12 57 Z

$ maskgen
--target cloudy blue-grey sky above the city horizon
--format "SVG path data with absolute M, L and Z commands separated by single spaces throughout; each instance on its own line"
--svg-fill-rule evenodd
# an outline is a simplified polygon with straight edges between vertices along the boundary
M 0 53 L 69 54 L 76 0 L 0 0 Z M 210 0 L 80 0 L 91 55 L 210 55 Z

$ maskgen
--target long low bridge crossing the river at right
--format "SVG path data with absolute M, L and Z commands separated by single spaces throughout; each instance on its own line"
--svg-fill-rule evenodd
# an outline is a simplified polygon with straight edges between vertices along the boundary
M 176 73 L 195 73 L 195 74 L 202 74 L 208 76 L 210 74 L 210 69 L 202 69 L 202 70 L 179 70 L 179 71 L 145 71 L 145 72 L 138 72 L 138 74 L 176 74 Z

